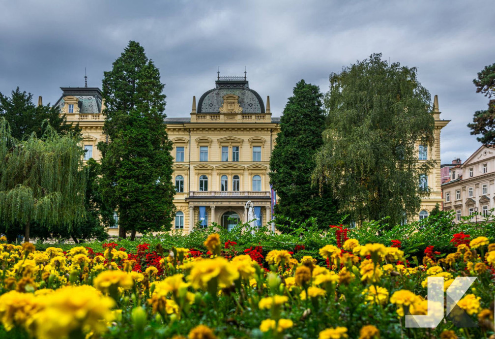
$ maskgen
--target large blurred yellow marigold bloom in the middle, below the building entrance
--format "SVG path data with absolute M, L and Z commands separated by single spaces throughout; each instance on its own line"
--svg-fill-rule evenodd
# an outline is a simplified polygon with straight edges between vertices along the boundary
M 195 261 L 188 276 L 191 285 L 197 289 L 204 289 L 212 279 L 218 279 L 218 285 L 224 288 L 239 279 L 239 272 L 234 265 L 222 257 Z

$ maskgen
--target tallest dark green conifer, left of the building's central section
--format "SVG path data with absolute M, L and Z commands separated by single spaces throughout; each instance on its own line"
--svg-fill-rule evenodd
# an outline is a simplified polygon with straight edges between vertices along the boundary
M 144 48 L 130 41 L 104 72 L 102 84 L 109 142 L 100 142 L 101 185 L 105 199 L 118 210 L 119 235 L 168 230 L 175 207 L 172 143 L 165 118 L 164 85 Z

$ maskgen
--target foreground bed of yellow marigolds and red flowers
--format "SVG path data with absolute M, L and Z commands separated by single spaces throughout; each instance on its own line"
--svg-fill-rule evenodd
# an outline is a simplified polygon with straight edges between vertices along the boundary
M 337 244 L 308 253 L 238 250 L 212 233 L 204 250 L 106 243 L 101 252 L 0 244 L 1 338 L 488 338 L 494 333 L 495 244 L 453 237 L 422 262 L 401 241 L 360 244 L 336 227 Z M 225 241 L 226 240 L 226 241 Z M 312 254 L 312 255 L 300 255 Z M 297 255 L 299 254 L 299 255 Z M 296 257 L 298 259 L 296 259 Z M 406 328 L 428 311 L 427 278 L 447 289 L 477 277 L 457 303 L 476 328 L 446 319 Z

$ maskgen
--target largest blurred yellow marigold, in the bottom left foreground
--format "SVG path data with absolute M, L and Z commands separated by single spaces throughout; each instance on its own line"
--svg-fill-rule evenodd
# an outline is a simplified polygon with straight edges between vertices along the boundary
M 44 309 L 33 316 L 38 339 L 68 338 L 77 332 L 99 334 L 113 319 L 115 302 L 92 286 L 66 286 L 45 299 Z

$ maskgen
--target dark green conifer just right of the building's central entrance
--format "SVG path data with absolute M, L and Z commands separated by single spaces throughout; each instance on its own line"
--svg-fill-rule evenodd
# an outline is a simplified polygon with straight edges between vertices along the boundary
M 303 222 L 315 217 L 320 227 L 328 227 L 339 219 L 330 190 L 324 187 L 319 192 L 311 183 L 314 156 L 323 144 L 322 97 L 318 86 L 299 81 L 280 119 L 269 175 L 279 198 L 275 214 L 281 230 L 289 230 L 291 223 L 287 218 Z

